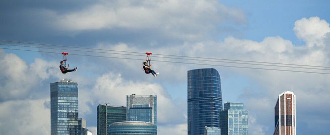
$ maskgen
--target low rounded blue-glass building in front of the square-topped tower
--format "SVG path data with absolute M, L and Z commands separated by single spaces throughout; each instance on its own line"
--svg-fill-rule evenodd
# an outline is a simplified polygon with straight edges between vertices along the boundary
M 157 126 L 150 122 L 143 121 L 125 121 L 116 122 L 110 125 L 109 133 L 111 135 L 129 135 L 129 134 L 146 134 L 156 135 Z

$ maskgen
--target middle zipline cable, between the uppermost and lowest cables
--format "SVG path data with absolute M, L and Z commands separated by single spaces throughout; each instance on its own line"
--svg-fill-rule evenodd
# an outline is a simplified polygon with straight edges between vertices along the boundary
M 81 51 L 81 52 L 94 52 L 94 53 L 106 53 L 106 54 L 120 54 L 120 55 L 131 55 L 131 56 L 145 56 L 145 55 L 137 55 L 137 54 L 123 54 L 123 53 L 101 52 L 101 51 L 87 51 L 87 50 L 75 50 L 75 49 L 59 49 L 59 48 L 36 47 L 36 46 L 26 46 L 26 45 L 14 45 L 14 44 L 1 44 L 1 43 L 0 43 L 0 45 L 30 47 L 30 48 L 42 48 L 42 49 L 70 50 L 70 51 Z M 174 57 L 162 57 L 162 56 L 154 56 L 154 57 L 172 58 L 172 59 L 184 59 L 184 60 L 200 60 L 200 59 L 174 58 Z M 250 64 L 250 65 L 264 65 L 264 66 L 277 66 L 277 67 L 290 67 L 290 68 L 297 68 L 297 69 L 311 69 L 311 70 L 325 70 L 325 71 L 330 71 L 330 69 L 317 69 L 317 68 L 311 68 L 311 67 L 297 67 L 297 66 L 256 64 L 256 63 L 242 63 L 242 62 L 229 62 L 229 61 L 216 61 L 216 60 L 203 60 L 203 61 L 224 62 L 224 63 L 236 63 L 236 64 Z

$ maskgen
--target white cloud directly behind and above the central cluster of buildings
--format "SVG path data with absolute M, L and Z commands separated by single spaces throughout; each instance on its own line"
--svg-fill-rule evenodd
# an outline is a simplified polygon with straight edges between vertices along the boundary
M 123 79 L 120 74 L 104 74 L 97 78 L 93 88 L 94 105 L 110 103 L 126 106 L 126 95 L 157 95 L 157 123 L 182 123 L 185 120 L 184 106 L 173 103 L 171 96 L 159 84 L 133 82 Z

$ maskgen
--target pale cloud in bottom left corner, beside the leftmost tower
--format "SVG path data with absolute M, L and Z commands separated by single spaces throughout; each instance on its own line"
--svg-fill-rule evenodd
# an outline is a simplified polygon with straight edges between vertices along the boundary
M 2 134 L 50 134 L 50 109 L 38 100 L 16 100 L 0 103 Z

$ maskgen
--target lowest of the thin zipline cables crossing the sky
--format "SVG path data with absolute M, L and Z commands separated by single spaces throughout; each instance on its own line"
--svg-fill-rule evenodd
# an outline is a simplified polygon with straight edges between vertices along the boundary
M 13 49 L 13 48 L 4 48 L 2 49 L 10 49 L 10 50 L 21 50 L 21 51 L 33 51 L 33 52 L 43 52 L 43 53 L 55 53 L 61 54 L 57 52 L 48 52 L 48 51 L 37 51 L 37 50 L 25 50 L 25 49 Z M 84 54 L 70 54 L 70 55 L 79 55 L 79 56 L 93 56 L 93 57 L 106 57 L 106 58 L 119 58 L 119 59 L 131 59 L 131 60 L 142 60 L 137 58 L 123 58 L 123 57 L 110 57 L 110 56 L 97 56 L 97 55 L 84 55 Z M 330 73 L 320 73 L 320 72 L 306 72 L 306 71 L 292 71 L 292 70 L 278 70 L 278 69 L 264 69 L 264 68 L 257 68 L 257 67 L 244 67 L 244 66 L 231 66 L 231 65 L 216 65 L 216 64 L 202 64 L 202 63 L 189 63 L 189 62 L 177 62 L 177 61 L 164 61 L 164 60 L 154 60 L 159 62 L 171 62 L 171 63 L 183 63 L 183 64 L 197 64 L 197 65 L 211 65 L 211 66 L 225 66 L 225 67 L 237 67 L 243 69 L 256 69 L 256 70 L 271 70 L 271 71 L 285 71 L 285 72 L 298 72 L 298 73 L 312 73 L 312 74 L 326 74 L 330 75 Z

